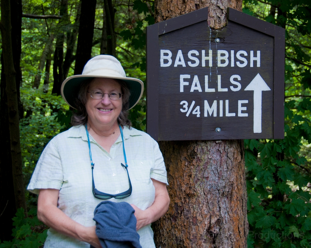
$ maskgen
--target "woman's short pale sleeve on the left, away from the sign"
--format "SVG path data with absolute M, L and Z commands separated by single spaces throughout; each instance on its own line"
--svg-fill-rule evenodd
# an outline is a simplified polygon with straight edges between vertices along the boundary
M 53 139 L 44 148 L 31 176 L 27 189 L 39 194 L 39 189 L 60 189 L 63 185 L 63 167 Z

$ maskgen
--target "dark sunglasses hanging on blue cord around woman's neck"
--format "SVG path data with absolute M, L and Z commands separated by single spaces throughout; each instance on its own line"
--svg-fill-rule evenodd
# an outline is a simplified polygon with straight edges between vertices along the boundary
M 121 137 L 122 137 L 122 143 L 123 143 L 123 155 L 124 155 L 124 160 L 125 160 L 125 165 L 123 165 L 121 163 L 121 166 L 124 167 L 126 169 L 126 172 L 128 173 L 128 163 L 126 161 L 126 154 L 125 154 L 125 149 L 124 149 L 124 140 L 123 140 L 123 131 L 121 126 L 119 125 L 120 128 L 120 132 L 121 132 Z M 94 183 L 94 176 L 93 176 L 93 169 L 94 169 L 94 163 L 92 161 L 92 153 L 91 153 L 91 143 L 90 143 L 90 138 L 89 138 L 89 131 L 87 131 L 87 125 L 85 125 L 85 129 L 86 129 L 86 135 L 87 135 L 87 142 L 89 145 L 89 151 L 90 151 L 90 158 L 91 158 L 91 166 L 92 166 L 92 191 L 93 191 L 93 195 L 98 198 L 98 199 L 102 199 L 102 200 L 108 200 L 110 198 L 115 198 L 115 199 L 122 199 L 125 197 L 128 197 L 132 194 L 132 184 L 131 184 L 131 179 L 130 176 L 128 175 L 128 184 L 130 186 L 130 188 L 127 191 L 124 191 L 122 193 L 118 193 L 116 195 L 111 195 L 111 194 L 107 194 L 104 192 L 100 192 L 99 190 L 97 190 L 95 188 L 95 183 Z

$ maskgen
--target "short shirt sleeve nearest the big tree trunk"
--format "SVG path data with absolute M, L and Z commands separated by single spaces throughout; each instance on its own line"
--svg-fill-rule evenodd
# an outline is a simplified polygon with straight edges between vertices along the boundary
M 159 144 L 155 140 L 153 141 L 153 153 L 155 164 L 153 170 L 151 171 L 150 177 L 162 183 L 165 183 L 166 185 L 169 185 L 167 182 L 164 159 L 160 151 Z

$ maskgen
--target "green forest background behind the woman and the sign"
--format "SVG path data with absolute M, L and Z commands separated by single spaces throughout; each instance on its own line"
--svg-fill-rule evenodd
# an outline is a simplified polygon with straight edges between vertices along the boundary
M 14 2 L 18 1 L 11 4 Z M 243 2 L 244 13 L 286 29 L 285 139 L 244 140 L 249 248 L 311 246 L 310 5 L 309 0 Z M 85 59 L 88 55 L 81 53 L 79 46 L 88 47 L 91 57 L 116 56 L 127 76 L 141 78 L 146 86 L 146 26 L 154 24 L 154 2 L 32 0 L 22 1 L 21 7 L 19 116 L 26 188 L 45 145 L 70 127 L 72 110 L 60 96 L 60 85 L 83 69 L 83 65 L 75 64 L 76 57 Z M 85 8 L 88 11 L 83 12 Z M 80 19 L 82 15 L 84 19 Z M 90 23 L 94 29 L 88 29 L 87 34 L 85 28 Z M 5 125 L 2 72 L 1 129 Z M 135 128 L 146 130 L 145 92 L 130 110 L 130 119 Z M 9 164 L 3 156 L 4 136 L 1 133 L 0 173 Z M 3 182 L 1 187 L 1 192 L 8 191 Z M 16 213 L 11 207 L 15 217 L 6 212 L 8 202 L 0 203 L 1 226 L 6 227 L 0 235 L 1 248 L 40 247 L 44 243 L 47 227 L 36 218 L 37 196 L 25 190 L 25 197 L 27 211 L 19 209 Z

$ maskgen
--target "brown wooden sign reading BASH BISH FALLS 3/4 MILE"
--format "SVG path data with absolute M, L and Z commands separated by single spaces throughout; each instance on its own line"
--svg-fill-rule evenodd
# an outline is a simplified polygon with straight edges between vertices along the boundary
M 228 8 L 147 27 L 147 133 L 156 140 L 283 139 L 285 29 Z

